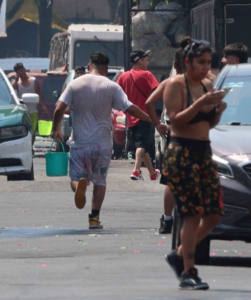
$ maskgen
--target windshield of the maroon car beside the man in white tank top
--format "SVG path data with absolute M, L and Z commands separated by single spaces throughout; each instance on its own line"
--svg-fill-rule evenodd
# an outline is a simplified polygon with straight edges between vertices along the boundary
M 61 76 L 60 78 L 48 77 L 43 81 L 42 95 L 45 101 L 55 102 L 53 98 L 54 90 L 61 90 L 65 77 Z

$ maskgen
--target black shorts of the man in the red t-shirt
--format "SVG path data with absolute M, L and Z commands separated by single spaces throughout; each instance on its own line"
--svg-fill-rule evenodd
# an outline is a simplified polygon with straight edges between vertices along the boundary
M 132 134 L 132 141 L 134 151 L 138 148 L 145 149 L 145 153 L 148 152 L 148 140 L 151 132 L 151 123 L 147 121 L 142 121 L 132 127 L 129 127 Z

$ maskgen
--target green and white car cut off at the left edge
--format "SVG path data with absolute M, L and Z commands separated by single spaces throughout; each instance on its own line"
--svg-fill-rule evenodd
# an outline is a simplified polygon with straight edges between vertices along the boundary
M 0 69 L 0 175 L 7 180 L 34 180 L 31 129 L 25 104 L 38 103 L 33 93 L 19 100 L 7 76 Z

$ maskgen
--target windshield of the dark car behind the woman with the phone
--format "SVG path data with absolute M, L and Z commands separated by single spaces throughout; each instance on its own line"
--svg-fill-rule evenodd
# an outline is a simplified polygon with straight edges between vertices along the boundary
M 220 124 L 251 124 L 251 76 L 226 77 L 223 87 L 232 87 L 223 101 L 227 108 Z

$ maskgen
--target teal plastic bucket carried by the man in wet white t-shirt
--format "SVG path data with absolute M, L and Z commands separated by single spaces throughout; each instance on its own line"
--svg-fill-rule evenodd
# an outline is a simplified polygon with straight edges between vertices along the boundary
M 50 145 L 49 152 L 45 153 L 46 175 L 47 176 L 67 176 L 69 154 L 64 152 L 64 146 L 61 142 L 62 152 L 51 152 L 51 147 L 56 140 Z

